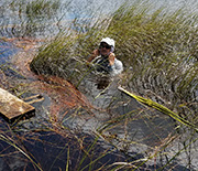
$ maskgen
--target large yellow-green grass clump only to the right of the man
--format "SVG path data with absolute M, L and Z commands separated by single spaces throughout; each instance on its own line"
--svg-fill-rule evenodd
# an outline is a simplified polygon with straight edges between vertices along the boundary
M 124 84 L 172 109 L 186 104 L 196 115 L 198 20 L 185 8 L 150 13 L 147 7 L 123 6 L 107 31 L 114 35 L 117 54 L 127 66 Z

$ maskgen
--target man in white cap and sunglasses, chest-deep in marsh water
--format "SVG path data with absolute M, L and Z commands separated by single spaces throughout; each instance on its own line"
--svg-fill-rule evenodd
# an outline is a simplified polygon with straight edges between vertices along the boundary
M 114 40 L 105 38 L 100 41 L 99 49 L 95 50 L 88 62 L 92 62 L 98 72 L 108 73 L 112 76 L 123 71 L 123 64 L 114 53 Z

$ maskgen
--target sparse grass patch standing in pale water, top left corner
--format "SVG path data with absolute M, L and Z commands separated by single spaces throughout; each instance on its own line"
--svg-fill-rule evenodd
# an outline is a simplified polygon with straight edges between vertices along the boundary
M 0 22 L 1 36 L 36 38 L 46 34 L 58 18 L 61 8 L 66 8 L 59 0 L 13 0 L 0 7 L 2 17 L 10 15 L 10 20 Z M 8 12 L 9 11 L 9 12 Z

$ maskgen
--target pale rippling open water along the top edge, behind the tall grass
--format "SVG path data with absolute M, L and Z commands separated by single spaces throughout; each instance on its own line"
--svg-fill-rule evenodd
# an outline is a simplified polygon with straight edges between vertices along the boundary
M 125 1 L 128 0 L 25 0 L 25 2 L 2 0 L 0 2 L 0 35 L 40 39 L 54 36 L 70 25 L 74 19 L 78 20 L 79 25 L 90 24 L 96 21 L 96 18 L 114 12 Z M 170 11 L 182 7 L 189 7 L 191 11 L 197 10 L 195 0 L 142 0 L 139 3 L 152 4 L 153 9 L 166 7 Z

